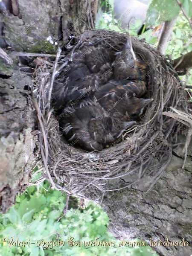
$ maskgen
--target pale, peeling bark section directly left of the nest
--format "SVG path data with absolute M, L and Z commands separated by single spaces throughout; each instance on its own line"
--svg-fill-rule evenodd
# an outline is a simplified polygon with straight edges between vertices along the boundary
M 23 90 L 31 78 L 6 65 L 3 73 L 6 79 L 0 78 L 0 210 L 5 212 L 28 184 L 36 162 L 36 138 L 32 135 L 35 113 Z

